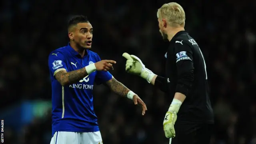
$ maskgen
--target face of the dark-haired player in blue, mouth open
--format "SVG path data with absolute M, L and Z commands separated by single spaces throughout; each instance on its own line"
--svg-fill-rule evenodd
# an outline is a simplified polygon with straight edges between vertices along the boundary
M 77 24 L 74 41 L 82 48 L 92 48 L 92 25 L 89 22 Z

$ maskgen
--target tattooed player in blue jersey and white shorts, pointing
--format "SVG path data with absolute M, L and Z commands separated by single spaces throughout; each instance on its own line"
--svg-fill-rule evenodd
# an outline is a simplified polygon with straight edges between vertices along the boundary
M 52 80 L 52 140 L 50 144 L 102 144 L 93 108 L 92 89 L 107 84 L 112 91 L 142 106 L 137 94 L 118 82 L 108 70 L 113 60 L 101 60 L 90 51 L 92 25 L 85 16 L 74 16 L 68 22 L 70 43 L 50 53 L 48 66 Z

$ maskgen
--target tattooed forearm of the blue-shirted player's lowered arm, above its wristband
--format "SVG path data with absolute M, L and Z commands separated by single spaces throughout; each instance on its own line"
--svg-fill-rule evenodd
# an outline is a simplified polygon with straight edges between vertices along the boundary
M 112 78 L 106 84 L 110 87 L 110 89 L 120 96 L 127 96 L 130 91 L 126 86 L 124 86 L 121 82 L 118 82 L 115 78 Z

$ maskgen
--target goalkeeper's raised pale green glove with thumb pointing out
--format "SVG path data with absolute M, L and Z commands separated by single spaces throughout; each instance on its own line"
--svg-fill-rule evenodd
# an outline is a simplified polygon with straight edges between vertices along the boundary
M 138 75 L 147 80 L 148 83 L 151 82 L 155 74 L 145 67 L 140 58 L 126 52 L 122 56 L 127 59 L 125 68 L 126 72 Z

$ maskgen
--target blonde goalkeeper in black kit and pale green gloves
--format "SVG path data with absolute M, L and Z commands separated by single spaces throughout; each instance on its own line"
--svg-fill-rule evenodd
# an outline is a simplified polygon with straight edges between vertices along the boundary
M 170 42 L 165 54 L 166 77 L 157 76 L 128 53 L 123 54 L 126 72 L 141 76 L 173 97 L 163 122 L 170 144 L 209 144 L 214 116 L 204 56 L 184 31 L 185 12 L 179 4 L 164 4 L 157 17 L 163 39 Z

